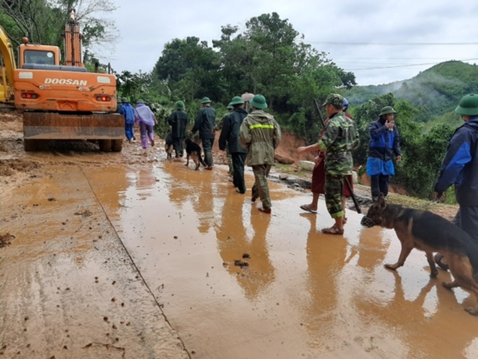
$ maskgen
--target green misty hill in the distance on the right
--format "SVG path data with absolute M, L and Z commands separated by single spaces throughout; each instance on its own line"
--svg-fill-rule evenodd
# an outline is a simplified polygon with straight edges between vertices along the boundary
M 478 93 L 478 66 L 461 61 L 442 62 L 409 80 L 356 86 L 344 96 L 352 105 L 359 105 L 389 92 L 420 110 L 416 121 L 436 120 L 452 112 L 463 96 Z

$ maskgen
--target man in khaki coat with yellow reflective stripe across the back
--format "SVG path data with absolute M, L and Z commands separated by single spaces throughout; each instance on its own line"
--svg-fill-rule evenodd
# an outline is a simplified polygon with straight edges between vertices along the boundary
M 239 141 L 247 149 L 246 163 L 254 172 L 251 201 L 260 198 L 262 207 L 259 211 L 270 214 L 272 204 L 267 176 L 274 164 L 274 151 L 281 140 L 280 126 L 272 115 L 264 112 L 267 108 L 264 96 L 255 95 L 249 105 L 252 111 L 242 121 Z

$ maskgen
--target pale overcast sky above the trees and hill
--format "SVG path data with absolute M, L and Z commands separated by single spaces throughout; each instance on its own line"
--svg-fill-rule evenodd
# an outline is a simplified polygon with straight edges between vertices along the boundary
M 239 26 L 277 12 L 352 71 L 359 85 L 409 79 L 447 60 L 478 63 L 476 0 L 115 0 L 116 51 L 102 62 L 116 71 L 149 72 L 174 38 L 221 37 L 221 26 Z M 464 44 L 467 43 L 467 44 Z M 438 45 L 440 44 L 440 45 Z M 455 44 L 455 45 L 452 45 Z

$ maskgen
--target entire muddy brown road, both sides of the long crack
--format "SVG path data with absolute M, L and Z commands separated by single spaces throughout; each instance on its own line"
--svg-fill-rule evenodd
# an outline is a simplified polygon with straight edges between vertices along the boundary
M 0 358 L 478 358 L 474 297 L 423 252 L 384 269 L 398 239 L 353 211 L 323 235 L 308 193 L 272 183 L 266 215 L 226 166 L 138 143 L 25 153 L 1 125 Z

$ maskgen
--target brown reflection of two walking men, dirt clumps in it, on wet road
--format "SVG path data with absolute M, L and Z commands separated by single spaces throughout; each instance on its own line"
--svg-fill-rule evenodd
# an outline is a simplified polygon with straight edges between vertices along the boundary
M 229 263 L 227 270 L 237 278 L 249 299 L 264 292 L 275 279 L 266 241 L 269 223 L 270 216 L 244 204 L 244 196 L 233 191 L 226 195 L 221 223 L 216 226 L 219 252 L 223 261 Z M 250 227 L 252 234 L 248 235 L 250 231 L 244 226 Z M 242 258 L 243 254 L 250 258 Z M 246 262 L 248 266 L 236 266 L 235 260 Z

